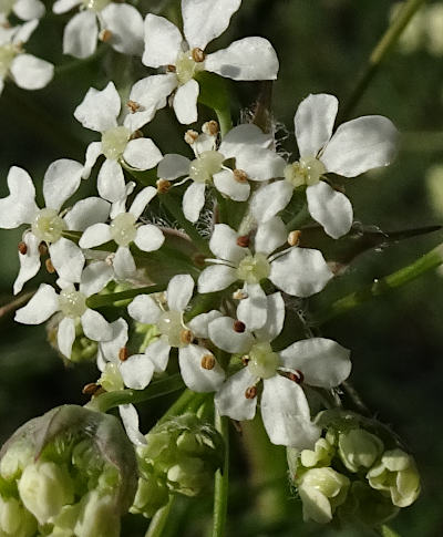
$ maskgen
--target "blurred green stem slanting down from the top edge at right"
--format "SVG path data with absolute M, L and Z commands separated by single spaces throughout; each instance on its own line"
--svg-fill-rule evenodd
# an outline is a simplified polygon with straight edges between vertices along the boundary
M 421 6 L 426 0 L 408 0 L 404 2 L 402 9 L 395 19 L 391 22 L 388 30 L 381 37 L 380 41 L 377 43 L 371 55 L 369 56 L 368 63 L 362 71 L 354 90 L 352 91 L 348 102 L 341 110 L 341 120 L 344 120 L 352 112 L 360 97 L 363 95 L 369 83 L 375 75 L 380 64 L 387 58 L 388 53 L 392 50 L 403 30 L 406 28 L 408 23 L 411 21 L 412 17 L 421 8 Z

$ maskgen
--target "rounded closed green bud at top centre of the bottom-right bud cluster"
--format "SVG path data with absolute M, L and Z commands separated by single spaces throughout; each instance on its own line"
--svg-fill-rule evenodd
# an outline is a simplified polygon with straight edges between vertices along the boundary
M 351 472 L 368 469 L 383 452 L 383 442 L 364 428 L 352 428 L 339 434 L 339 454 L 344 466 Z

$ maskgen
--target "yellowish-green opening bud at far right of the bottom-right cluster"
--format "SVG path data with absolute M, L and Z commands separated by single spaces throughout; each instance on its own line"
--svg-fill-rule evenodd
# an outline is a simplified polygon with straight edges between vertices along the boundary
M 408 507 L 420 494 L 420 475 L 414 459 L 399 448 L 384 452 L 367 477 L 372 488 L 389 493 L 398 507 Z

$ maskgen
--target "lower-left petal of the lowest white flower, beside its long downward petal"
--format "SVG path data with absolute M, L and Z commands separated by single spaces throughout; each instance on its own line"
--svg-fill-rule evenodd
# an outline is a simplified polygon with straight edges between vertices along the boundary
M 218 413 L 233 420 L 253 420 L 256 414 L 257 397 L 247 399 L 245 392 L 256 379 L 245 368 L 229 376 L 214 397 Z

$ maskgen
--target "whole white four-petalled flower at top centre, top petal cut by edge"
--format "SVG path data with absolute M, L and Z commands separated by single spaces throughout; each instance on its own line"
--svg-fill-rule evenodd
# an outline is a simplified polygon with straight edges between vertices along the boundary
M 198 82 L 195 75 L 212 71 L 234 80 L 275 80 L 278 59 L 264 38 L 245 38 L 227 49 L 205 54 L 206 45 L 229 25 L 240 0 L 182 0 L 183 30 L 163 17 L 147 14 L 145 51 L 142 61 L 148 68 L 166 66 L 174 94 L 174 111 L 181 123 L 197 121 Z M 158 79 L 158 83 L 161 79 Z M 162 83 L 165 86 L 166 84 Z M 168 94 L 167 93 L 167 94 Z

